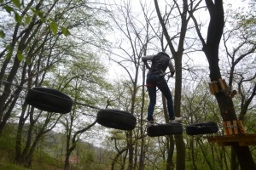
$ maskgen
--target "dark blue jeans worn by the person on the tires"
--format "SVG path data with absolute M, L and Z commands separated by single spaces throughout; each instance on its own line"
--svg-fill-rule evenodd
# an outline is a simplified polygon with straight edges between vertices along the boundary
M 153 113 L 154 105 L 156 104 L 156 88 L 159 88 L 161 93 L 166 97 L 169 118 L 174 118 L 172 94 L 165 77 L 158 74 L 150 74 L 147 76 L 146 86 L 148 88 L 148 95 L 150 99 L 148 105 L 148 121 L 154 121 Z

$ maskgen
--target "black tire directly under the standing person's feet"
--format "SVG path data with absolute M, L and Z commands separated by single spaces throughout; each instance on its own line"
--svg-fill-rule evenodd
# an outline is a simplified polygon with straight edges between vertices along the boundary
M 181 123 L 159 124 L 148 127 L 147 132 L 150 137 L 181 134 L 183 133 L 183 126 Z

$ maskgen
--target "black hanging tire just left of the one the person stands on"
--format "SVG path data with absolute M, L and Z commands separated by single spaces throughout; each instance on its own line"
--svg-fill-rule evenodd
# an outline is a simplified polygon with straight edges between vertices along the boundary
M 132 130 L 136 127 L 137 120 L 136 117 L 128 111 L 104 109 L 98 111 L 96 122 L 104 127 Z

